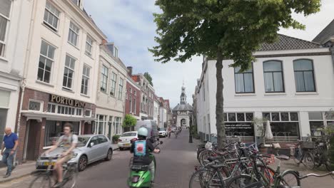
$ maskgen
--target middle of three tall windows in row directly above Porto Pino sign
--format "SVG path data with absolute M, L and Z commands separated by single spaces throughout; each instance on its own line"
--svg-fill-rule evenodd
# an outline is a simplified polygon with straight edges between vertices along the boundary
M 71 90 L 73 78 L 74 78 L 74 67 L 76 66 L 76 59 L 69 55 L 65 58 L 65 68 L 63 77 L 63 88 Z

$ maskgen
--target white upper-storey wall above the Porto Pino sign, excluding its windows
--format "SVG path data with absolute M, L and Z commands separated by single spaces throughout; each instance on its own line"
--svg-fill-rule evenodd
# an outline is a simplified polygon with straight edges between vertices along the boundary
M 76 98 L 87 103 L 95 103 L 96 90 L 98 85 L 98 66 L 99 66 L 99 45 L 103 38 L 106 38 L 101 31 L 93 25 L 91 21 L 83 14 L 78 6 L 71 4 L 70 1 L 52 1 L 61 14 L 59 16 L 59 29 L 57 32 L 51 30 L 44 23 L 44 10 L 46 1 L 34 1 L 33 20 L 31 28 L 30 40 L 31 48 L 29 49 L 27 65 L 24 70 L 27 87 L 34 90 L 41 90 L 46 93 L 56 93 L 57 95 L 68 98 Z M 77 46 L 73 46 L 68 42 L 70 21 L 79 26 L 79 41 Z M 92 56 L 85 54 L 86 36 L 93 38 Z M 54 63 L 51 71 L 51 82 L 49 84 L 37 81 L 37 71 L 39 66 L 39 56 L 41 49 L 41 40 L 47 41 L 56 47 L 54 55 Z M 66 54 L 76 58 L 74 83 L 71 91 L 62 88 L 64 64 Z M 81 95 L 81 77 L 83 64 L 91 67 L 88 95 Z

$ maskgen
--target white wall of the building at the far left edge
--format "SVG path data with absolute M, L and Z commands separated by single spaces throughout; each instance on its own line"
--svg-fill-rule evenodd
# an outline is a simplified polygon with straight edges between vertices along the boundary
M 33 1 L 11 1 L 9 21 L 6 25 L 4 56 L 0 56 L 0 109 L 6 109 L 6 121 L 0 120 L 1 130 L 16 127 L 19 90 L 29 38 Z M 1 133 L 2 134 L 2 133 Z M 1 160 L 0 155 L 0 160 Z

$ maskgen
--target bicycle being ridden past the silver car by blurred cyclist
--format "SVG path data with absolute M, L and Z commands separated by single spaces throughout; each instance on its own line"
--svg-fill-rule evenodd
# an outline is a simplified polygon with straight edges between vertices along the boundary
M 42 156 L 46 157 L 46 156 Z M 46 157 L 49 162 L 45 162 L 47 169 L 41 170 L 45 172 L 41 172 L 37 175 L 37 177 L 31 182 L 29 188 L 49 188 L 52 187 L 55 183 L 54 177 L 54 165 L 56 164 L 56 160 L 60 157 L 60 155 L 56 155 L 55 157 Z M 63 184 L 61 187 L 64 188 L 74 188 L 76 187 L 76 180 L 78 179 L 78 168 L 76 162 L 68 162 L 63 165 L 64 168 L 64 176 L 63 176 Z

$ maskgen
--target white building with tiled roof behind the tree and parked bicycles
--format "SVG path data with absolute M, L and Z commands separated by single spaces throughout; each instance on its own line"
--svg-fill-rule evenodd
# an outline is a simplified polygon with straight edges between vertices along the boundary
M 246 71 L 223 60 L 226 135 L 254 141 L 260 136 L 254 117 L 270 121 L 273 142 L 295 142 L 332 125 L 334 58 L 322 44 L 280 34 L 278 41 L 264 43 L 253 54 L 256 60 Z M 216 60 L 203 58 L 195 92 L 202 140 L 217 133 L 216 91 Z

